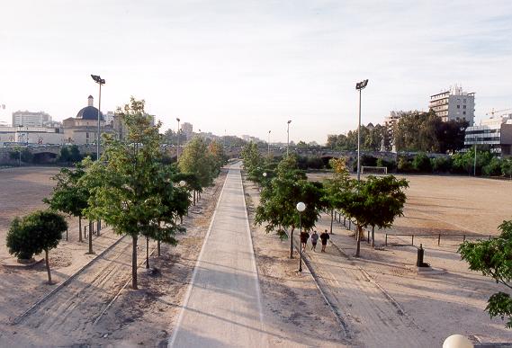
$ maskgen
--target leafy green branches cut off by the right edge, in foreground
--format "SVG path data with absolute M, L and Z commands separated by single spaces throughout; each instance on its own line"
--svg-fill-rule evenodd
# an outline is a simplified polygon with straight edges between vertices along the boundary
M 503 221 L 499 229 L 499 237 L 466 241 L 459 247 L 459 253 L 469 263 L 470 270 L 482 272 L 506 287 L 508 293 L 499 291 L 490 296 L 485 310 L 490 317 L 501 317 L 502 320 L 508 317 L 506 326 L 512 328 L 512 221 Z

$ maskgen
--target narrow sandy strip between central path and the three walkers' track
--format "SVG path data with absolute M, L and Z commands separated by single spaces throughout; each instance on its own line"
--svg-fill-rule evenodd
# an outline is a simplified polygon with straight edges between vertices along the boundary
M 307 267 L 304 265 L 304 271 L 299 273 L 299 258 L 288 258 L 289 242 L 254 225 L 255 207 L 259 203 L 256 187 L 244 181 L 244 189 L 263 293 L 266 332 L 271 345 L 345 346 L 344 331 L 327 307 Z

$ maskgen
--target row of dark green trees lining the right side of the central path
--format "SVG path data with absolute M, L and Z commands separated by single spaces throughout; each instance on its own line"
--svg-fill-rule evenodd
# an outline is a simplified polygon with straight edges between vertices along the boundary
M 365 181 L 351 179 L 344 159 L 331 159 L 334 174 L 324 183 L 311 182 L 297 165 L 295 156 L 285 156 L 279 163 L 263 158 L 255 144 L 242 151 L 247 178 L 262 186 L 260 204 L 256 208 L 256 224 L 265 224 L 266 232 L 276 231 L 290 235 L 290 257 L 293 255 L 293 231 L 301 227 L 310 230 L 316 226 L 321 211 L 328 211 L 332 219 L 334 210 L 355 219 L 356 256 L 360 255 L 363 228 L 387 228 L 402 214 L 408 187 L 404 179 L 394 176 L 369 176 Z M 296 204 L 302 201 L 306 210 L 299 216 Z M 288 233 L 287 233 L 288 232 Z M 374 242 L 373 242 L 374 245 Z

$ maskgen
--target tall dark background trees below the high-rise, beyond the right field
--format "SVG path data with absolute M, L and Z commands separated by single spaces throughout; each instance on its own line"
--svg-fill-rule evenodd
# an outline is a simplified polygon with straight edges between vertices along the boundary
M 361 148 L 379 151 L 383 145 L 386 151 L 391 151 L 394 144 L 398 151 L 459 151 L 464 146 L 464 131 L 468 125 L 465 120 L 444 122 L 432 110 L 407 112 L 392 127 L 380 124 L 361 126 Z M 329 135 L 327 146 L 345 151 L 357 149 L 357 129 L 346 135 Z

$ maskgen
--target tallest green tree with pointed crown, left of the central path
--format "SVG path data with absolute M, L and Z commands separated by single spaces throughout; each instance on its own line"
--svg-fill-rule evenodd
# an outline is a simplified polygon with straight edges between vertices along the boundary
M 130 103 L 118 114 L 128 129 L 127 142 L 121 143 L 105 136 L 105 146 L 100 161 L 89 162 L 82 182 L 92 187 L 89 219 L 103 219 L 115 233 L 132 239 L 131 286 L 137 289 L 137 245 L 142 232 L 151 231 L 161 240 L 175 229 L 157 227 L 162 215 L 162 199 L 155 195 L 157 178 L 161 170 L 160 137 L 157 126 L 144 112 L 144 101 Z M 93 182 L 93 184 L 91 184 Z M 94 183 L 99 182 L 99 185 Z

